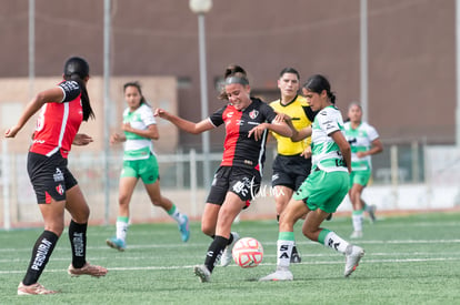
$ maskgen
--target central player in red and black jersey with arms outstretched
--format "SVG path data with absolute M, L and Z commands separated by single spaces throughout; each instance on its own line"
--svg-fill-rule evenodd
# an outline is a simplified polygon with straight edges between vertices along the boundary
M 213 238 L 204 265 L 194 266 L 194 274 L 201 282 L 211 279 L 219 260 L 222 266 L 231 261 L 231 247 L 238 240 L 238 234 L 231 233 L 231 224 L 260 189 L 268 130 L 284 136 L 292 134 L 284 122 L 272 123 L 277 116 L 273 109 L 250 96 L 249 81 L 241 67 L 231 67 L 224 77 L 222 98 L 228 104 L 210 118 L 193 123 L 162 109 L 156 111 L 156 115 L 193 134 L 226 126 L 222 162 L 214 174 L 201 220 L 202 232 Z

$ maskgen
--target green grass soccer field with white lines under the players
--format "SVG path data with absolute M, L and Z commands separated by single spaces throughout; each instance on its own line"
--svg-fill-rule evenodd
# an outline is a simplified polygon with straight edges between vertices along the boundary
M 324 226 L 346 240 L 349 217 Z M 276 221 L 233 224 L 241 236 L 258 238 L 263 263 L 250 270 L 217 266 L 211 283 L 193 275 L 202 264 L 210 238 L 191 224 L 192 236 L 180 242 L 176 224 L 131 225 L 128 250 L 106 246 L 114 226 L 91 226 L 88 261 L 109 268 L 102 278 L 70 277 L 70 244 L 61 236 L 40 283 L 60 294 L 18 296 L 17 286 L 41 228 L 0 231 L 0 304 L 460 304 L 460 214 L 430 213 L 386 216 L 366 223 L 366 250 L 358 270 L 343 277 L 344 257 L 301 235 L 296 237 L 302 263 L 291 266 L 293 282 L 257 282 L 276 266 Z

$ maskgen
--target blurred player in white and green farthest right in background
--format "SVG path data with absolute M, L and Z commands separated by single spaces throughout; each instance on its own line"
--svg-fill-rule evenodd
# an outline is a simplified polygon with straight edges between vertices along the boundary
M 372 174 L 371 155 L 383 151 L 377 130 L 362 121 L 362 108 L 353 102 L 348 108 L 349 121 L 344 123 L 348 143 L 351 146 L 350 197 L 353 212 L 352 238 L 362 237 L 363 213 L 367 211 L 372 222 L 376 221 L 376 205 L 368 205 L 362 200 L 362 191 Z

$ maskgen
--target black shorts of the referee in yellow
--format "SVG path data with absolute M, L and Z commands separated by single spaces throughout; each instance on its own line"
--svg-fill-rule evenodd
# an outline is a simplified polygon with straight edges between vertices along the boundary
M 311 171 L 311 159 L 301 155 L 277 155 L 273 162 L 271 186 L 282 185 L 293 191 L 307 179 Z

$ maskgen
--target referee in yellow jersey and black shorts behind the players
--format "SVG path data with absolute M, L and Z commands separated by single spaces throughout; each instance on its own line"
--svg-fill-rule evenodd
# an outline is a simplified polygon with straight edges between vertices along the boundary
M 300 74 L 293 68 L 284 68 L 278 79 L 280 99 L 270 103 L 277 113 L 284 113 L 291 118 L 292 125 L 301 130 L 311 125 L 316 112 L 310 109 L 306 98 L 299 94 Z M 302 184 L 311 171 L 311 139 L 292 141 L 290 138 L 271 132 L 277 140 L 277 156 L 273 161 L 273 186 L 277 221 L 290 201 L 292 193 Z M 307 151 L 306 151 L 307 150 Z M 294 245 L 291 263 L 300 263 L 301 257 Z

